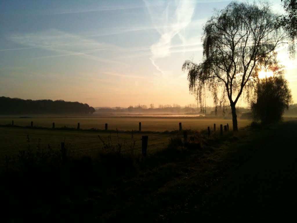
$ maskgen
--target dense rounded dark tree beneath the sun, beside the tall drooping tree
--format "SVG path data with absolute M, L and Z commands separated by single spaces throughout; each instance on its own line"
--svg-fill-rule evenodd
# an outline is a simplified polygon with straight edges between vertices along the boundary
M 260 79 L 255 95 L 255 102 L 251 104 L 252 114 L 262 124 L 281 120 L 292 102 L 287 80 L 282 75 Z

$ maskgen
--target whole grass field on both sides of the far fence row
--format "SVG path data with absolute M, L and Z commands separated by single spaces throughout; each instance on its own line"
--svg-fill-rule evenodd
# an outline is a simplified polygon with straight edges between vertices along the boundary
M 47 149 L 50 146 L 53 149 L 60 149 L 61 142 L 64 142 L 69 151 L 76 155 L 88 155 L 98 151 L 104 151 L 104 143 L 116 147 L 122 145 L 122 152 L 130 151 L 134 147 L 136 153 L 141 150 L 141 136 L 148 135 L 148 153 L 153 154 L 158 150 L 164 149 L 169 139 L 175 134 L 172 131 L 178 130 L 178 123 L 182 123 L 183 129 L 206 130 L 207 126 L 213 129 L 216 123 L 219 125 L 229 123 L 232 129 L 232 120 L 222 118 L 143 118 L 143 117 L 76 117 L 76 118 L 13 118 L 14 125 L 29 126 L 33 121 L 34 126 L 47 127 L 48 129 L 38 128 L 8 128 L 0 127 L 1 144 L 0 144 L 0 161 L 4 163 L 5 155 L 17 156 L 20 150 L 26 150 L 28 146 L 31 149 Z M 0 125 L 11 124 L 11 118 L 0 118 Z M 71 131 L 51 129 L 52 123 L 55 127 L 76 128 L 80 123 L 82 129 L 104 129 L 105 123 L 108 123 L 108 130 L 119 130 L 117 134 L 112 132 L 91 132 L 91 131 Z M 142 131 L 122 132 L 138 130 L 138 123 L 142 123 Z M 244 127 L 250 123 L 250 120 L 238 120 L 238 127 Z M 168 132 L 165 132 L 168 131 Z M 98 135 L 100 136 L 99 139 Z M 29 140 L 28 140 L 29 136 Z M 133 138 L 132 138 L 133 137 Z M 109 140 L 111 138 L 111 141 Z M 135 144 L 134 144 L 135 143 Z

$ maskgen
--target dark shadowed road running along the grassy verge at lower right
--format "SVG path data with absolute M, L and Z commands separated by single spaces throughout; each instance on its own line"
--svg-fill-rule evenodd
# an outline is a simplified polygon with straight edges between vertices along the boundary
M 265 147 L 178 222 L 295 222 L 297 122 L 281 125 Z M 257 146 L 257 145 L 255 145 Z M 199 207 L 200 206 L 200 207 Z

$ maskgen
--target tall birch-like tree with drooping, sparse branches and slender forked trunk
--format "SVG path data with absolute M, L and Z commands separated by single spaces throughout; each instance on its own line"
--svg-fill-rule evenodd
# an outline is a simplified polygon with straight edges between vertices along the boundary
M 203 27 L 202 62 L 186 60 L 182 66 L 200 106 L 207 92 L 216 108 L 230 102 L 233 131 L 238 131 L 238 99 L 244 89 L 251 89 L 260 68 L 275 59 L 275 50 L 286 38 L 276 25 L 277 18 L 268 3 L 231 2 Z

